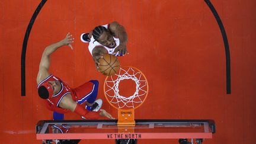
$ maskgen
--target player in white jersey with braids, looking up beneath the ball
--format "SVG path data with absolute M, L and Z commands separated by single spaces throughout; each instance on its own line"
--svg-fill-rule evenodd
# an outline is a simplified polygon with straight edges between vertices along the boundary
M 88 49 L 97 69 L 99 65 L 98 59 L 103 57 L 104 54 L 123 56 L 128 53 L 126 30 L 116 21 L 97 26 L 90 33 L 82 33 L 81 41 L 89 43 Z

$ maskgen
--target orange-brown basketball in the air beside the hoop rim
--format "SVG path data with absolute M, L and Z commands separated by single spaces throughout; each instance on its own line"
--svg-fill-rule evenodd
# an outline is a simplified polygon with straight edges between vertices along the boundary
M 105 54 L 103 58 L 99 60 L 100 65 L 98 65 L 99 71 L 103 75 L 111 76 L 114 75 L 120 69 L 120 63 L 116 56 Z

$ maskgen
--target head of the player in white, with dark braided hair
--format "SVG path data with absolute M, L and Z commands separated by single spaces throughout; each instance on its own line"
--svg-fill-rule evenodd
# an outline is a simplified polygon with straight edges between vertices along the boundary
M 104 46 L 110 48 L 116 47 L 116 43 L 114 42 L 114 38 L 110 30 L 101 25 L 95 27 L 94 30 L 92 30 L 92 36 L 95 40 L 97 40 L 100 44 L 103 44 Z

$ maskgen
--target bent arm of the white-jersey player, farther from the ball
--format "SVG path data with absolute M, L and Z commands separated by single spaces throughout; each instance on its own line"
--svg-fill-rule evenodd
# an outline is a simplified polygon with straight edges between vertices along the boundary
M 120 40 L 120 44 L 115 49 L 114 52 L 115 53 L 119 52 L 119 55 L 125 55 L 126 53 L 128 53 L 127 46 L 126 46 L 128 37 L 124 27 L 119 23 L 117 23 L 116 21 L 114 21 L 113 23 L 110 24 L 110 31 L 111 33 L 114 33 L 114 35 L 118 37 Z

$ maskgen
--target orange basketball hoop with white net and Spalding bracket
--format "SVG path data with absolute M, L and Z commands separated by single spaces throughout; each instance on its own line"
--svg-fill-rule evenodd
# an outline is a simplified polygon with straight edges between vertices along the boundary
M 120 89 L 123 81 L 129 82 Z M 130 94 L 130 89 L 134 92 Z M 119 125 L 135 124 L 134 110 L 144 103 L 148 95 L 146 76 L 133 66 L 121 66 L 115 75 L 107 76 L 104 82 L 104 95 L 108 103 L 119 110 Z

